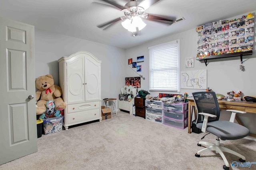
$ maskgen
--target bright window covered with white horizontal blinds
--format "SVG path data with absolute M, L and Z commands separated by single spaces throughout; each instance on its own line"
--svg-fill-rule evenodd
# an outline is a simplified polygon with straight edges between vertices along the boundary
M 148 47 L 149 90 L 180 92 L 179 40 Z

